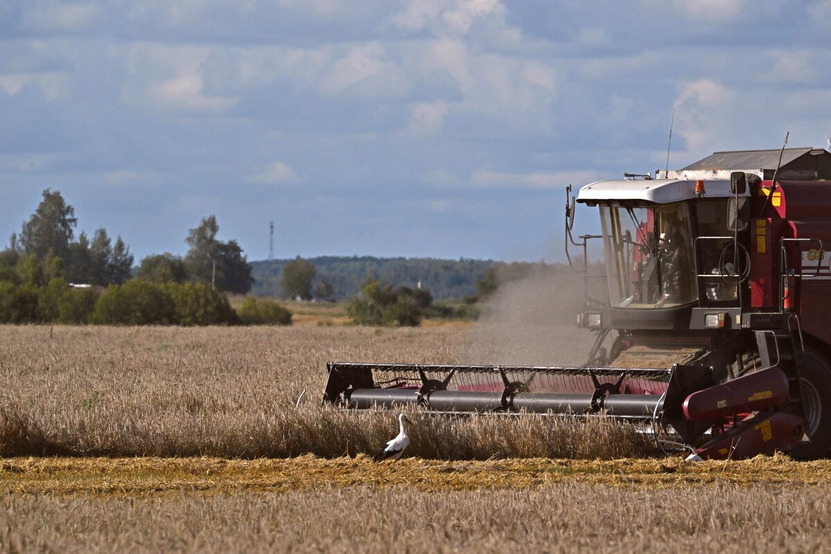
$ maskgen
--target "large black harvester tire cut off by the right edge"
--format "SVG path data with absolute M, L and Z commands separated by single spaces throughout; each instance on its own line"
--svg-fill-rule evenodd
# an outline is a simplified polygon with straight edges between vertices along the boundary
M 805 434 L 793 449 L 793 458 L 824 458 L 831 453 L 831 366 L 819 352 L 806 347 L 805 363 L 799 368 L 799 392 L 803 399 Z

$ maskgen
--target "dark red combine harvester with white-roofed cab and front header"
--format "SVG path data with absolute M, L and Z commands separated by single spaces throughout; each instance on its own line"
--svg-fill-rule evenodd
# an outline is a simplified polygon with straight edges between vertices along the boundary
M 350 409 L 602 414 L 643 422 L 701 458 L 831 449 L 831 153 L 717 152 L 652 175 L 567 189 L 569 243 L 602 243 L 607 293 L 578 326 L 581 367 L 327 364 Z M 575 241 L 575 200 L 600 233 Z M 571 262 L 571 257 L 569 257 Z M 573 266 L 574 267 L 574 266 Z M 605 345 L 605 346 L 604 346 Z M 607 347 L 608 346 L 608 349 Z

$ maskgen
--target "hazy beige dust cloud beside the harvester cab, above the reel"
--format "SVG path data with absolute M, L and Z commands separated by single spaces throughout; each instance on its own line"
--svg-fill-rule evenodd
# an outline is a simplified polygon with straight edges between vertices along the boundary
M 583 276 L 538 271 L 505 282 L 484 303 L 465 359 L 488 365 L 582 365 L 595 336 L 577 326 Z

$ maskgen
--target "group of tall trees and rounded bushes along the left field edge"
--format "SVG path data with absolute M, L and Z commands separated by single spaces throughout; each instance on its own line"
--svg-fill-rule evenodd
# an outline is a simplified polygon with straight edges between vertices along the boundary
M 238 310 L 224 292 L 244 294 L 252 267 L 239 244 L 217 238 L 214 215 L 190 229 L 184 257 L 134 257 L 105 228 L 90 240 L 75 234 L 75 209 L 59 191 L 43 191 L 35 213 L 0 251 L 0 322 L 102 324 L 287 324 L 276 302 L 245 302 Z

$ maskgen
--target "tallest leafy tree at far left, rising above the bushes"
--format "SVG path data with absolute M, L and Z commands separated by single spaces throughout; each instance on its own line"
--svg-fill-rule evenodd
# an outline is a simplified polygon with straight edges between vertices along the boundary
M 23 223 L 20 247 L 38 258 L 52 251 L 55 256 L 66 259 L 76 223 L 75 209 L 64 201 L 61 193 L 46 189 L 35 213 Z

